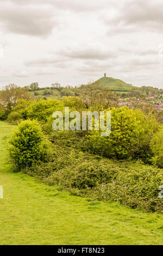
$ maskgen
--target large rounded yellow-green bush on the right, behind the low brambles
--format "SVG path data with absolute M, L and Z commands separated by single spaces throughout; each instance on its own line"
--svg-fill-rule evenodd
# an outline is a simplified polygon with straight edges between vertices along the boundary
M 113 108 L 110 136 L 102 137 L 101 131 L 91 131 L 88 143 L 91 150 L 99 155 L 126 159 L 139 156 L 142 147 L 149 145 L 156 130 L 156 120 L 151 115 L 145 115 L 140 109 Z

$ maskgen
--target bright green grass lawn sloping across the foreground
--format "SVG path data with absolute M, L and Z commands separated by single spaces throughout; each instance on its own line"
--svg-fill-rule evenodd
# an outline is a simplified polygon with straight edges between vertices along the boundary
M 13 173 L 0 122 L 0 245 L 161 245 L 163 214 L 71 196 Z

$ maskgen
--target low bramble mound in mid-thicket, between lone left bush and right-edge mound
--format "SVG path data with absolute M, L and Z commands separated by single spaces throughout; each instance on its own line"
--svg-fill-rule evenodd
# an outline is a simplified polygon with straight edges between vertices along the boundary
M 84 192 L 87 188 L 92 189 L 109 182 L 116 172 L 116 168 L 111 168 L 108 162 L 98 161 L 96 158 L 87 159 L 83 153 L 79 153 L 77 159 L 73 160 L 76 166 L 74 164 L 73 167 L 66 166 L 53 174 L 60 184 L 69 188 L 78 188 Z

